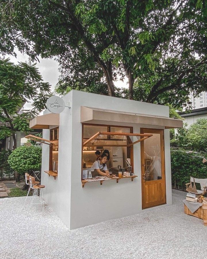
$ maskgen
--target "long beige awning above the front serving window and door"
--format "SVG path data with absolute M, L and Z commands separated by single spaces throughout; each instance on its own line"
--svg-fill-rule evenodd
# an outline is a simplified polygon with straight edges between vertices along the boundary
M 164 126 L 165 129 L 182 128 L 183 120 L 137 113 L 124 113 L 81 106 L 81 122 L 106 124 L 106 122 L 137 123 Z

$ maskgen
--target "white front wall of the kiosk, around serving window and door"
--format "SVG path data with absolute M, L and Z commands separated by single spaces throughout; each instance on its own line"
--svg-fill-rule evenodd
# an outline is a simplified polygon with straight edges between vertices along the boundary
M 66 101 L 68 96 L 64 97 Z M 110 109 L 114 111 L 143 113 L 149 115 L 169 116 L 168 107 L 136 102 L 126 99 L 89 94 L 85 92 L 72 91 L 72 175 L 71 175 L 71 204 L 70 204 L 70 228 L 78 228 L 95 224 L 107 219 L 121 218 L 142 211 L 141 208 L 141 159 L 140 144 L 134 146 L 134 168 L 137 178 L 116 181 L 104 181 L 101 186 L 99 182 L 81 184 L 81 136 L 82 124 L 80 123 L 81 106 Z M 108 122 L 112 125 L 114 122 Z M 133 126 L 133 132 L 139 133 L 140 127 L 148 125 Z M 155 128 L 153 126 L 153 128 Z M 158 127 L 157 127 L 158 128 Z M 169 130 L 165 130 L 165 148 L 169 149 Z M 166 150 L 166 193 L 167 204 L 171 204 L 171 175 L 170 175 L 170 153 Z M 151 208 L 152 210 L 153 208 Z

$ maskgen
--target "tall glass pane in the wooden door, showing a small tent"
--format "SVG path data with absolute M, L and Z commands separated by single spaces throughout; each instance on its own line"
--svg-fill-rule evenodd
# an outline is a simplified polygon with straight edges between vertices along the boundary
M 146 181 L 162 179 L 160 134 L 144 140 Z

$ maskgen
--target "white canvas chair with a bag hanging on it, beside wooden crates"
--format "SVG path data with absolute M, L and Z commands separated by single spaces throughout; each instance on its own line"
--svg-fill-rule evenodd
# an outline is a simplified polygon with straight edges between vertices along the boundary
M 193 186 L 192 186 L 192 182 L 193 182 Z M 200 183 L 201 190 L 196 189 L 195 183 Z M 207 193 L 207 190 L 206 190 L 207 179 L 193 178 L 191 176 L 190 182 L 185 184 L 185 185 L 186 185 L 186 191 L 189 192 L 189 193 L 196 194 L 196 196 L 198 198 Z

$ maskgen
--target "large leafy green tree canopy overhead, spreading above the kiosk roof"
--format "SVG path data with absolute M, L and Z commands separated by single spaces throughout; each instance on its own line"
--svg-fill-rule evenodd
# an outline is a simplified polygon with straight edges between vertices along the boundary
M 191 107 L 206 90 L 206 0 L 0 0 L 3 53 L 56 57 L 57 92 Z M 23 18 L 24 17 L 24 18 Z M 127 77 L 129 90 L 114 87 Z M 140 94 L 141 93 L 141 94 Z

